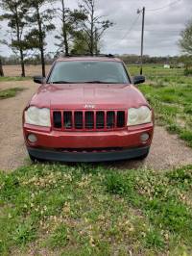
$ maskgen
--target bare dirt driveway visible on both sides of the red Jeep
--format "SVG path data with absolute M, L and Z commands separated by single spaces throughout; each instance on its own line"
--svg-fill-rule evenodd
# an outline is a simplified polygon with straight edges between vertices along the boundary
M 32 81 L 1 82 L 1 89 L 25 88 L 14 98 L 0 100 L 0 169 L 12 170 L 28 159 L 22 136 L 22 111 L 35 93 L 37 85 Z M 192 164 L 192 149 L 177 136 L 168 134 L 156 126 L 149 157 L 145 161 L 123 161 L 114 164 L 120 168 L 151 167 L 156 170 Z

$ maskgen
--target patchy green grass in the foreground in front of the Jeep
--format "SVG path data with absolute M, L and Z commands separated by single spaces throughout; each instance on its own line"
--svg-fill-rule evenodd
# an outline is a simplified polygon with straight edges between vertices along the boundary
M 0 175 L 0 254 L 191 255 L 192 166 L 23 166 Z

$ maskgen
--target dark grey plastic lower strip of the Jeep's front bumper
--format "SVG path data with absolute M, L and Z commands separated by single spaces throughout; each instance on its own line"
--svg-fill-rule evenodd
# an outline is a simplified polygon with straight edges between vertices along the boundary
M 128 160 L 147 155 L 150 147 L 130 148 L 112 152 L 60 152 L 28 147 L 29 154 L 36 159 L 55 162 L 105 162 Z

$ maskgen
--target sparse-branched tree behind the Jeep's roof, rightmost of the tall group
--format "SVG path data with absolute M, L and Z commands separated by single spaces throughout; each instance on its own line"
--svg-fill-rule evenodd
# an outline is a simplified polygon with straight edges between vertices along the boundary
M 87 46 L 90 55 L 98 54 L 99 42 L 105 31 L 113 25 L 109 20 L 103 20 L 103 16 L 96 14 L 96 0 L 83 0 L 80 5 L 81 10 L 87 15 L 84 21 L 84 32 L 88 38 Z

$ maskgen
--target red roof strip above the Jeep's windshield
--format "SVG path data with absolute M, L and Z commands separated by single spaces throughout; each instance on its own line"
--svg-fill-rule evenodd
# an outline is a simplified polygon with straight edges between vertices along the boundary
M 81 56 L 81 57 L 63 57 L 59 58 L 56 62 L 76 62 L 76 61 L 89 61 L 89 62 L 116 62 L 122 63 L 118 58 L 113 57 L 92 57 L 92 56 Z

